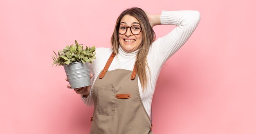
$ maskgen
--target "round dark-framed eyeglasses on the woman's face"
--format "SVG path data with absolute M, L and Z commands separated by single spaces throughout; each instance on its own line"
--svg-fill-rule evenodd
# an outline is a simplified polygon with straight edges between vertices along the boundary
M 118 33 L 121 35 L 124 35 L 127 32 L 127 29 L 130 28 L 130 31 L 132 32 L 133 35 L 139 35 L 141 32 L 141 26 L 139 25 L 133 25 L 133 26 L 125 26 L 125 25 L 119 25 L 116 26 L 118 28 Z

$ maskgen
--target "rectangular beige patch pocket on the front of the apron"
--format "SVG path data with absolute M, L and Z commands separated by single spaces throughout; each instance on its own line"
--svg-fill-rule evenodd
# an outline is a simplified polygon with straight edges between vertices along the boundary
M 115 89 L 97 87 L 97 115 L 115 116 Z

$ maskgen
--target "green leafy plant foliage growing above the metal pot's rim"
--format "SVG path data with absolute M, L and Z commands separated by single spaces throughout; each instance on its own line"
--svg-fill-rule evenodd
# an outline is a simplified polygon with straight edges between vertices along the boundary
M 75 41 L 75 43 L 75 45 L 67 45 L 63 51 L 58 51 L 58 55 L 53 51 L 56 56 L 52 56 L 54 61 L 52 65 L 56 64 L 57 67 L 60 65 L 69 65 L 70 63 L 79 61 L 82 63 L 92 63 L 93 59 L 96 59 L 95 45 L 92 48 L 88 48 L 86 46 L 86 48 L 83 49 L 83 44 L 78 44 L 77 41 Z

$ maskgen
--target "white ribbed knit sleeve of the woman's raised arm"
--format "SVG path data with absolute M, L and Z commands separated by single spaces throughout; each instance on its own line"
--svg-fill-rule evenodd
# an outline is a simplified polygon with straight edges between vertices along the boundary
M 153 57 L 164 64 L 189 39 L 200 22 L 199 11 L 162 11 L 161 24 L 175 25 L 170 33 L 152 43 Z M 152 53 L 151 53 L 152 54 Z

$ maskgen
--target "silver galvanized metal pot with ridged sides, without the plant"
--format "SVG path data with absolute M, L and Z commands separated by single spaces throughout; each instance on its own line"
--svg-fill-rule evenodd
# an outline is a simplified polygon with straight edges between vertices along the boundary
M 89 86 L 90 82 L 90 69 L 89 63 L 83 64 L 82 62 L 75 62 L 69 65 L 63 65 L 68 82 L 71 85 L 71 89 L 79 87 Z

